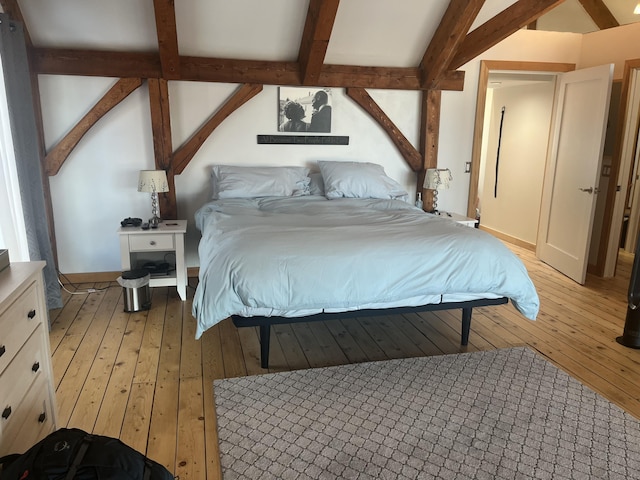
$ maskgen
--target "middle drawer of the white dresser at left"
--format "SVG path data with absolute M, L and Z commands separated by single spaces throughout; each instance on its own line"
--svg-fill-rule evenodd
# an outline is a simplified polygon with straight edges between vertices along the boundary
M 23 397 L 47 365 L 42 325 L 27 340 L 9 366 L 0 375 L 0 419 L 9 420 Z

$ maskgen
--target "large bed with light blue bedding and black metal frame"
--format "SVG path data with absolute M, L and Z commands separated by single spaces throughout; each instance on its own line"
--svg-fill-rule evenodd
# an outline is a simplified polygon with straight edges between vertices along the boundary
M 311 175 L 214 167 L 213 199 L 195 215 L 197 338 L 229 317 L 260 326 L 267 368 L 277 323 L 460 308 L 466 344 L 477 306 L 511 300 L 536 318 L 533 283 L 499 240 L 414 207 L 378 165 L 318 163 Z

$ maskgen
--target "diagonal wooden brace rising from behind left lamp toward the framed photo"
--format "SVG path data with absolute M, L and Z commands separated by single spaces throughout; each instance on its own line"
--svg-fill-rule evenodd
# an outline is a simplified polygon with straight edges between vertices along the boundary
M 193 156 L 200 149 L 202 144 L 209 138 L 209 135 L 220 125 L 229 115 L 235 112 L 246 102 L 262 91 L 262 85 L 246 84 L 240 87 L 227 102 L 207 122 L 194 133 L 176 152 L 173 154 L 174 173 L 176 175 L 183 172 Z

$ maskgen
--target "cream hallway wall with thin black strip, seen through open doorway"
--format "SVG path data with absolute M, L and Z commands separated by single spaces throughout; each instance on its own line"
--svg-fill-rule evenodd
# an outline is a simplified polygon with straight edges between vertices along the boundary
M 480 210 L 482 224 L 535 244 L 547 156 L 555 82 L 547 81 L 493 90 L 487 155 Z M 497 196 L 496 153 L 501 109 L 505 107 L 500 143 Z

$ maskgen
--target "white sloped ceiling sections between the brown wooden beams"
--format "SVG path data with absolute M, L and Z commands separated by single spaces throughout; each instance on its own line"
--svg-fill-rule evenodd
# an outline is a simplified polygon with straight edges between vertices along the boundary
M 471 30 L 516 0 L 486 0 Z M 620 24 L 640 21 L 637 0 L 604 0 Z M 415 67 L 449 0 L 343 0 L 325 63 Z M 38 47 L 156 52 L 152 0 L 19 0 Z M 179 0 L 181 55 L 295 61 L 309 0 Z M 579 0 L 540 17 L 540 30 L 597 30 Z

